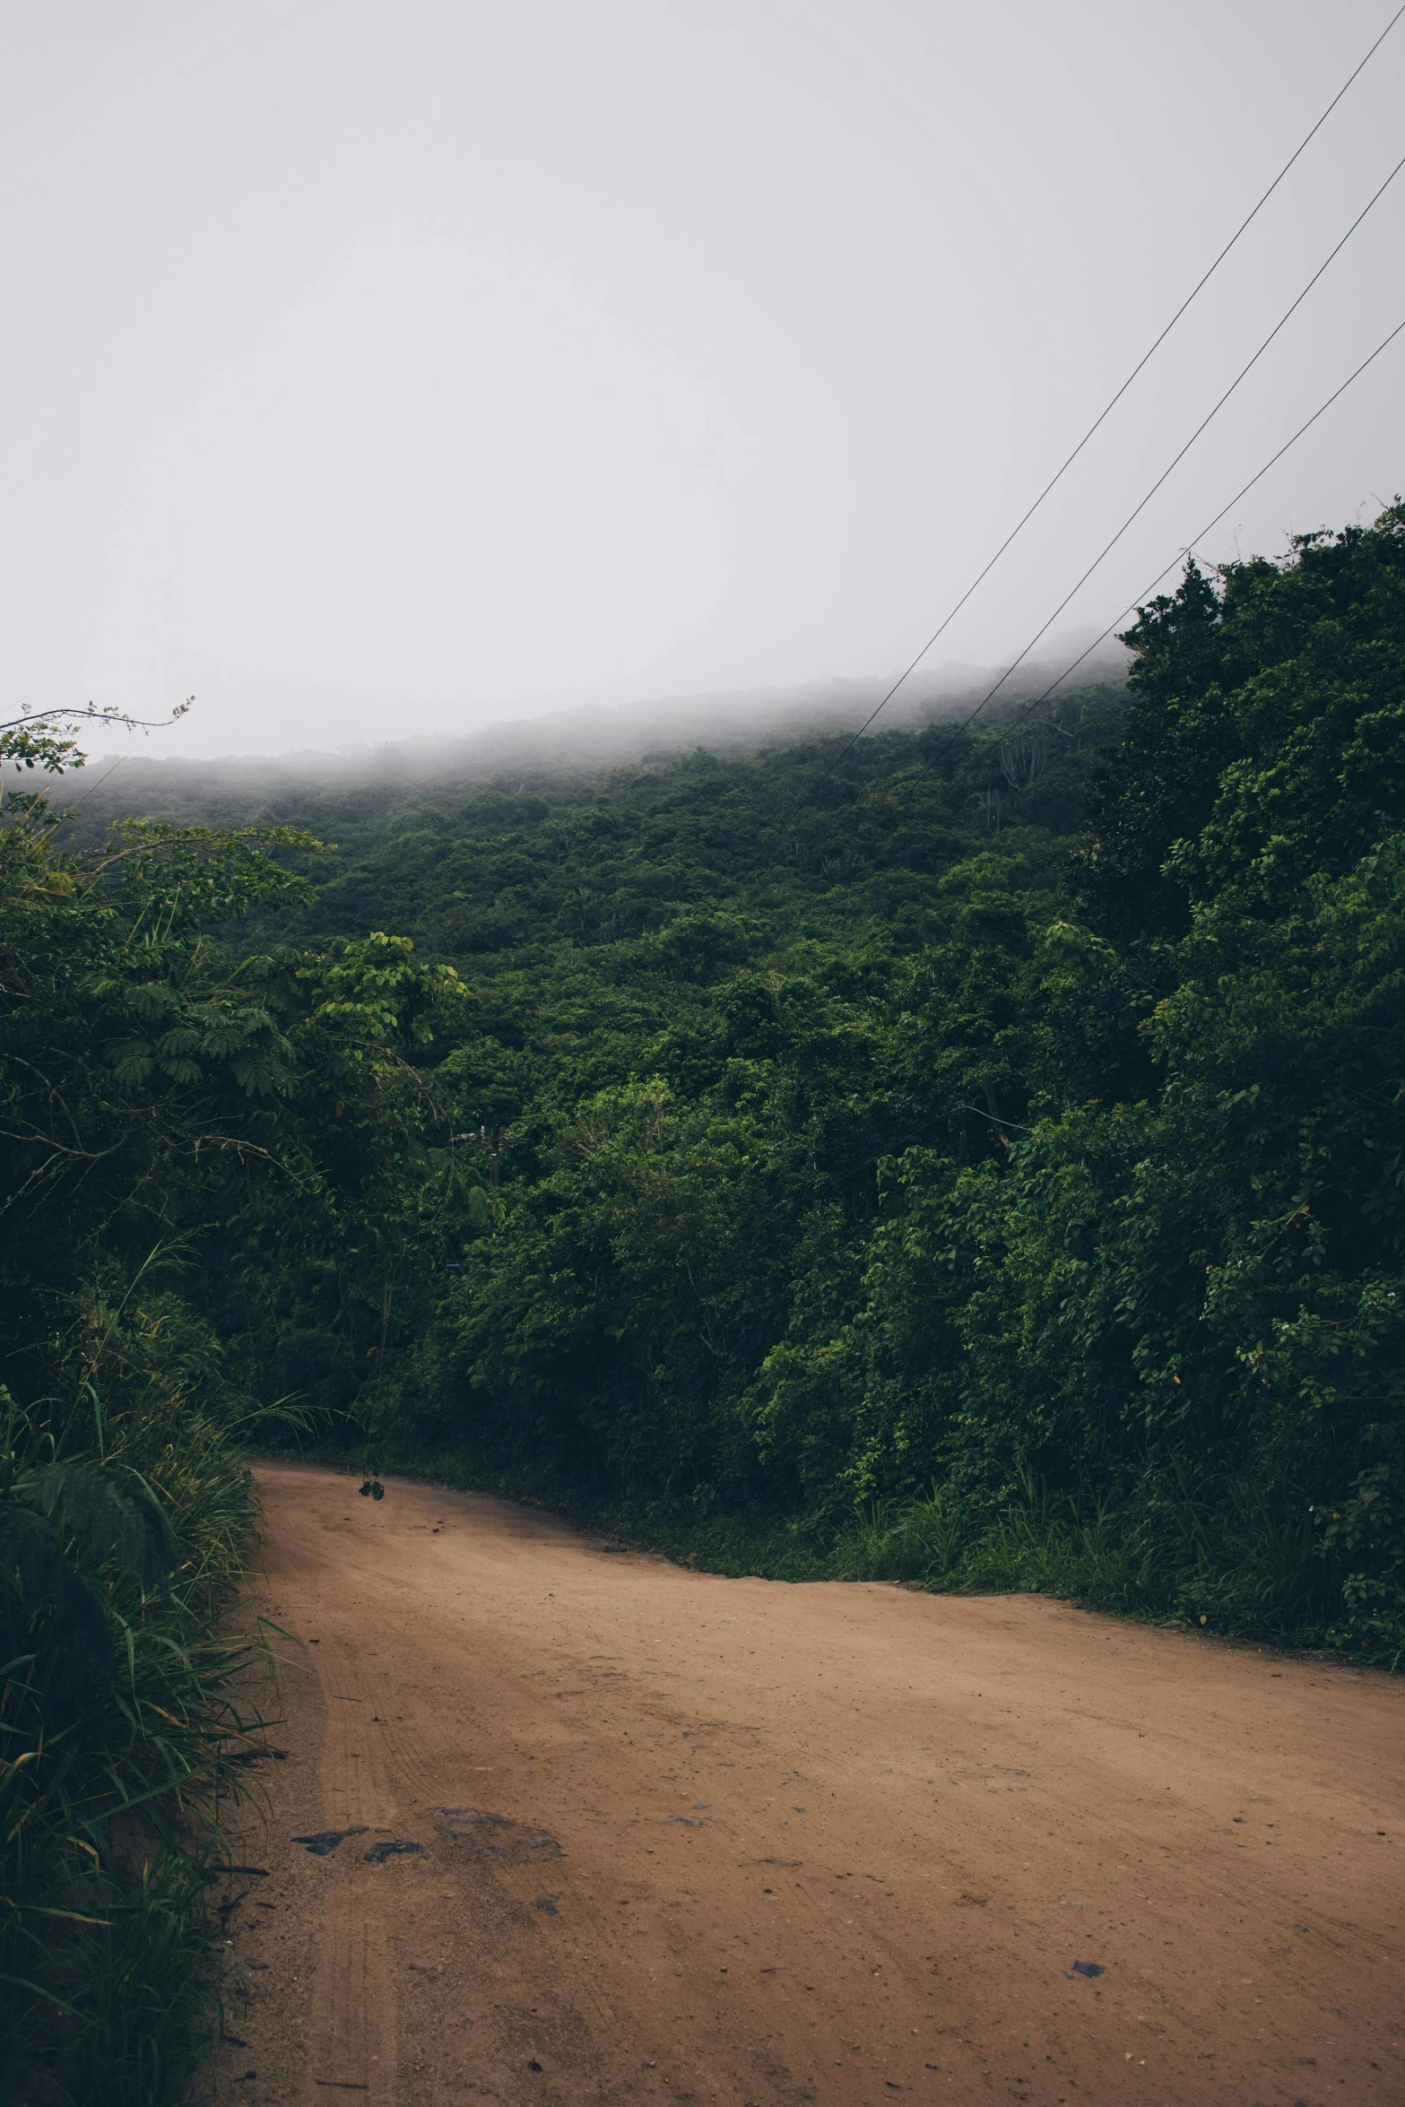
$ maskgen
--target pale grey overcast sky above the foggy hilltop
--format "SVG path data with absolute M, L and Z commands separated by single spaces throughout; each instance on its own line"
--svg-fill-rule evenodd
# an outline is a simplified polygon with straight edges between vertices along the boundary
M 895 670 L 1394 4 L 0 0 L 0 714 L 276 752 Z M 1403 152 L 1405 21 L 933 670 L 1026 643 Z M 1403 257 L 1405 175 L 1060 630 Z M 1405 337 L 1203 554 L 1376 514 L 1401 405 Z

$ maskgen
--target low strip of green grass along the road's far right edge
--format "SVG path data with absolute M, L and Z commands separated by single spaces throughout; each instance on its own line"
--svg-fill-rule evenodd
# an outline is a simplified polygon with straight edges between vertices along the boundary
M 320 1443 L 310 1458 L 360 1471 L 360 1452 Z M 1405 1633 L 1363 1635 L 1342 1610 L 1342 1572 L 1306 1515 L 1260 1488 L 1186 1475 L 1133 1498 L 1076 1500 L 1026 1475 L 994 1513 L 950 1488 L 859 1513 L 769 1515 L 691 1500 L 628 1500 L 506 1471 L 461 1448 L 390 1439 L 377 1469 L 543 1507 L 592 1532 L 729 1578 L 893 1580 L 946 1595 L 1053 1595 L 1142 1622 L 1310 1648 L 1399 1669 Z

